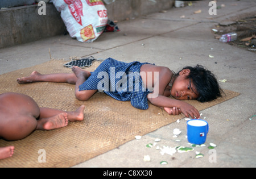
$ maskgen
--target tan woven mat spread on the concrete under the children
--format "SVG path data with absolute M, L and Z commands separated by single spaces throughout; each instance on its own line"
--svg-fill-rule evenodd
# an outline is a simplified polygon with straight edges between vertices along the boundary
M 0 167 L 69 167 L 92 159 L 127 141 L 136 135 L 145 135 L 166 126 L 183 114 L 170 116 L 165 111 L 149 104 L 148 110 L 131 106 L 130 101 L 117 101 L 108 95 L 96 93 L 89 101 L 75 98 L 75 85 L 37 82 L 19 85 L 16 78 L 26 77 L 32 71 L 39 73 L 72 73 L 63 64 L 67 61 L 51 60 L 47 63 L 15 70 L 0 75 L 0 94 L 23 93 L 32 97 L 40 107 L 50 107 L 64 111 L 75 111 L 85 105 L 85 119 L 69 123 L 67 127 L 52 131 L 35 131 L 25 139 L 5 141 L 0 139 L 0 147 L 15 146 L 13 157 L 1 160 Z M 93 63 L 87 70 L 93 71 L 100 64 Z M 189 101 L 199 111 L 234 98 L 239 93 L 225 90 L 225 96 L 212 102 Z M 39 163 L 40 149 L 46 152 L 46 163 Z

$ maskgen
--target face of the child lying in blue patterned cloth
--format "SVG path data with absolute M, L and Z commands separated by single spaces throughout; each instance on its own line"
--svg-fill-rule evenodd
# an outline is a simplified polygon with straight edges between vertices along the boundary
M 171 89 L 171 95 L 179 100 L 191 100 L 199 97 L 193 85 L 193 82 L 187 78 L 190 70 L 184 69 L 179 73 L 179 76 L 174 81 Z

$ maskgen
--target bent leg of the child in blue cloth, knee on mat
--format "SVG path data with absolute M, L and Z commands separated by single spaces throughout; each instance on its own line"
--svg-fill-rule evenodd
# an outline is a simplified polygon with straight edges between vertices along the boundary
M 81 84 L 83 84 L 85 82 L 86 78 L 88 78 L 90 76 L 90 72 L 82 70 L 78 66 L 73 66 L 72 71 L 75 73 L 75 75 L 77 77 L 76 88 L 75 88 L 76 98 L 79 99 L 80 101 L 87 101 L 90 97 L 93 96 L 93 94 L 95 94 L 98 91 L 98 90 L 79 91 L 79 86 Z

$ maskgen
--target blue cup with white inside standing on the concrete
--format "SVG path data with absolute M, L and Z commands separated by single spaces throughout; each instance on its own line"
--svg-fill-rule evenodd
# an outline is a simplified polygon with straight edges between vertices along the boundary
M 204 144 L 208 131 L 209 124 L 205 120 L 191 119 L 187 121 L 188 142 L 191 144 Z

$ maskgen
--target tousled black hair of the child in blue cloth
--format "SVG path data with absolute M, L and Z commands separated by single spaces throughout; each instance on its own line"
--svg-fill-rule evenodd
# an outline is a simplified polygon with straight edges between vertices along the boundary
M 218 85 L 217 79 L 212 72 L 205 69 L 201 65 L 196 65 L 195 67 L 186 66 L 183 69 L 190 70 L 187 78 L 193 82 L 193 85 L 197 90 L 199 95 L 199 97 L 196 99 L 197 101 L 207 102 L 212 101 L 217 97 L 221 97 L 221 93 L 223 91 Z

